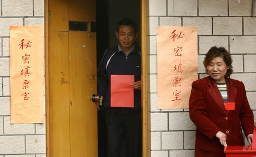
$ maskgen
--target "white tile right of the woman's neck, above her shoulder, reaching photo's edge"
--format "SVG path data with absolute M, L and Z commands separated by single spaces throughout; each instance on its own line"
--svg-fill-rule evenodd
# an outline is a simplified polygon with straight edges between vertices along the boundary
M 246 91 L 256 90 L 256 73 L 233 73 L 230 78 L 242 81 Z

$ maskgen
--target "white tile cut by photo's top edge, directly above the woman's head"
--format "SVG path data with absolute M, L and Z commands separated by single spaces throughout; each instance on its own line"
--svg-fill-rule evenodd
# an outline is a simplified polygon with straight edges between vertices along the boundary
M 199 16 L 228 16 L 228 1 L 200 0 Z

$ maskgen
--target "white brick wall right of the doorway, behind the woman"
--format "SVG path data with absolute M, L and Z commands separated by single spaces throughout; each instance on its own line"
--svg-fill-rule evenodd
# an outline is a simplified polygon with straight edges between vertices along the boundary
M 209 48 L 223 46 L 228 49 L 233 58 L 231 78 L 243 81 L 251 109 L 256 114 L 256 17 L 251 17 L 253 0 L 242 0 L 242 3 L 237 0 L 148 2 L 150 155 L 194 156 L 196 127 L 189 119 L 188 109 L 157 109 L 156 27 L 198 27 L 200 79 L 208 76 L 203 60 Z

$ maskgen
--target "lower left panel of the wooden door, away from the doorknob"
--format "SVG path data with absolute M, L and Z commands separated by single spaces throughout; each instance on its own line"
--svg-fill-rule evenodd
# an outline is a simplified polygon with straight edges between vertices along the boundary
M 69 147 L 68 32 L 52 32 L 49 53 L 51 156 L 67 156 Z

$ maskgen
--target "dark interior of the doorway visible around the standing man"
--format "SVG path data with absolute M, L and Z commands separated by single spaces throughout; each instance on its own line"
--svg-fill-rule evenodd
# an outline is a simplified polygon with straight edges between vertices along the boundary
M 96 0 L 96 32 L 97 32 L 97 69 L 107 48 L 116 46 L 116 25 L 119 20 L 129 18 L 138 26 L 136 42 L 141 46 L 141 1 Z M 98 156 L 107 156 L 107 130 L 105 115 L 98 111 Z M 125 157 L 125 145 L 122 146 L 122 157 Z

